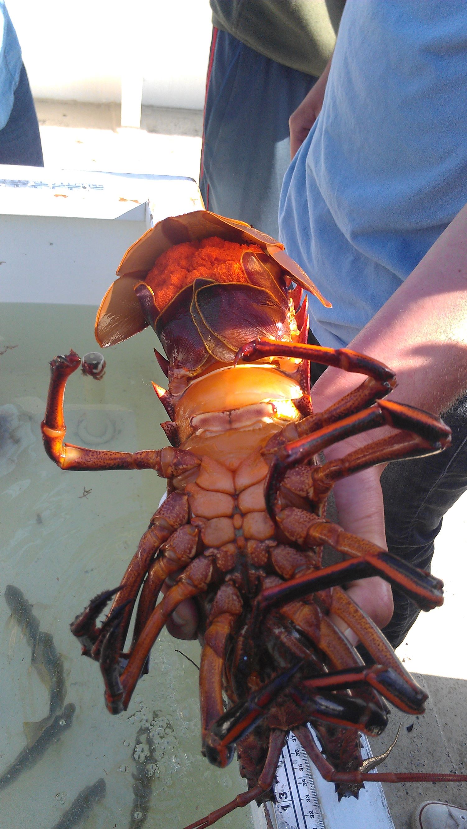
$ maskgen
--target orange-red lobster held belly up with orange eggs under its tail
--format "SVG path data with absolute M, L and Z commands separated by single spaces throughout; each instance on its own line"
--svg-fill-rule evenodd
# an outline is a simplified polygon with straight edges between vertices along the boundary
M 382 733 L 386 701 L 421 714 L 427 695 L 343 585 L 379 575 L 429 610 L 442 604 L 443 584 L 326 518 L 339 479 L 440 452 L 450 429 L 434 415 L 384 400 L 396 377 L 382 363 L 308 344 L 304 289 L 329 303 L 283 245 L 243 222 L 208 211 L 169 217 L 128 250 L 117 274 L 95 336 L 109 346 L 147 326 L 155 330 L 166 353 L 155 349 L 156 359 L 169 383 L 168 390 L 153 385 L 170 418 L 161 426 L 171 446 L 122 453 L 65 444 L 63 398 L 80 365 L 75 351 L 51 361 L 42 434 L 62 469 L 150 468 L 167 480 L 166 500 L 118 589 L 92 599 L 71 630 L 83 654 L 99 662 L 107 708 L 117 714 L 148 671 L 171 613 L 195 599 L 203 642 L 202 751 L 224 767 L 236 749 L 248 791 L 187 829 L 205 829 L 236 807 L 273 799 L 289 731 L 339 796 L 358 796 L 366 781 L 467 780 L 369 774 L 363 764 L 359 731 Z M 366 379 L 314 412 L 310 361 Z M 93 366 L 84 371 L 93 374 Z M 320 461 L 330 444 L 382 425 L 394 429 L 390 437 Z M 324 545 L 340 560 L 323 565 Z M 169 577 L 175 583 L 157 604 Z M 354 631 L 373 666 L 363 663 L 336 617 Z

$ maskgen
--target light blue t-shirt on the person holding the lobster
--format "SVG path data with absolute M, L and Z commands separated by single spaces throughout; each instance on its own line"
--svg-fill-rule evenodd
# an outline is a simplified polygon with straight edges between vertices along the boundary
M 286 172 L 280 238 L 342 347 L 467 202 L 467 2 L 347 0 L 323 109 Z

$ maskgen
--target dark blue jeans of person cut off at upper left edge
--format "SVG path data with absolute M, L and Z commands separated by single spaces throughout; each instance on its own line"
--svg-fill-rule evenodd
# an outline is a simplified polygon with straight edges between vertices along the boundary
M 10 118 L 0 129 L 0 164 L 44 167 L 39 124 L 24 64 Z

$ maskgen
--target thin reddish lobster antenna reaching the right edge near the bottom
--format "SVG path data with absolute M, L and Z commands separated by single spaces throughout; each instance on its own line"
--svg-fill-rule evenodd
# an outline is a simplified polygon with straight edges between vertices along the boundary
M 441 774 L 429 772 L 372 772 L 365 773 L 356 769 L 353 772 L 336 772 L 335 768 L 323 757 L 311 736 L 310 731 L 301 726 L 294 729 L 296 739 L 306 750 L 311 762 L 315 764 L 322 778 L 330 783 L 466 783 L 467 774 Z

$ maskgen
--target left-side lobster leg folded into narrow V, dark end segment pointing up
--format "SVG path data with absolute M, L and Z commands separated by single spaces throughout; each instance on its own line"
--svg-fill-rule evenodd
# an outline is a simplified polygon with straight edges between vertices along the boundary
M 135 647 L 128 656 L 123 671 L 119 658 L 123 647 L 121 621 L 118 620 L 108 632 L 101 648 L 99 664 L 104 676 L 105 701 L 111 714 L 119 714 L 120 711 L 127 710 L 149 652 L 167 618 L 185 599 L 204 593 L 212 578 L 212 573 L 212 562 L 204 556 L 195 559 L 186 567 L 176 584 L 152 611 Z

